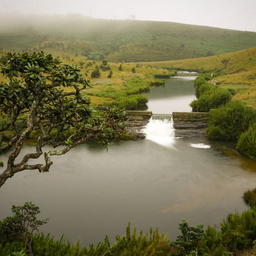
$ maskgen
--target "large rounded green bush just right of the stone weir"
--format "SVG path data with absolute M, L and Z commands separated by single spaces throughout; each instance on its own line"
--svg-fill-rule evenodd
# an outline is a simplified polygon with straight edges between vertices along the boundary
M 253 121 L 256 121 L 256 110 L 241 101 L 232 100 L 226 106 L 210 111 L 206 135 L 211 139 L 237 140 Z

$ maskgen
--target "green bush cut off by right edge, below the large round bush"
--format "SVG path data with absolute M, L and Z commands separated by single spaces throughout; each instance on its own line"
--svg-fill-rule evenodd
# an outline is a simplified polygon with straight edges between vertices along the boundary
M 256 160 L 256 122 L 251 123 L 248 130 L 240 134 L 236 148 Z

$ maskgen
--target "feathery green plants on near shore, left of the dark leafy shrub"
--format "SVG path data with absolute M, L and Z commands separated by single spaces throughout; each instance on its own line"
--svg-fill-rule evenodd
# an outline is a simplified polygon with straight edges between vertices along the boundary
M 15 250 L 20 250 L 21 243 L 16 243 Z M 2 246 L 2 247 L 1 247 Z M 14 248 L 14 242 L 0 244 L 0 256 L 6 256 L 5 252 L 10 253 L 10 249 Z M 6 248 L 6 249 L 5 249 Z M 8 249 L 7 249 L 8 248 Z M 89 248 L 80 248 L 79 240 L 76 244 L 70 244 L 64 236 L 60 240 L 54 241 L 53 237 L 48 234 L 45 236 L 43 233 L 37 234 L 33 237 L 33 252 L 37 256 L 102 256 L 102 255 L 170 255 L 169 239 L 164 234 L 159 234 L 158 229 L 153 230 L 150 228 L 150 233 L 143 234 L 142 230 L 139 235 L 136 234 L 136 227 L 133 232 L 130 231 L 130 223 L 126 228 L 126 236 L 116 236 L 116 242 L 111 246 L 108 236 L 105 236 L 104 242 L 99 242 L 96 247 L 93 244 Z

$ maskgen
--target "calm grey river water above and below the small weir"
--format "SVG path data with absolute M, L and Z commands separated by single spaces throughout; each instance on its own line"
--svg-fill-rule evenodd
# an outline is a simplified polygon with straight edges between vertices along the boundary
M 154 90 L 170 93 L 164 92 L 163 102 L 194 98 L 192 78 L 173 77 Z M 159 97 L 149 97 L 149 109 L 162 111 L 151 107 L 154 99 Z M 181 106 L 169 110 L 182 111 Z M 189 111 L 188 101 L 183 111 Z M 211 147 L 191 147 L 199 143 Z M 33 150 L 28 141 L 22 153 Z M 164 146 L 147 139 L 113 140 L 108 152 L 90 142 L 52 161 L 49 173 L 23 171 L 6 181 L 0 189 L 0 219 L 11 215 L 13 204 L 32 201 L 41 209 L 40 218 L 50 218 L 41 231 L 55 238 L 64 233 L 71 242 L 80 238 L 83 246 L 103 241 L 105 234 L 114 242 L 115 235 L 125 235 L 129 221 L 138 231 L 158 227 L 171 239 L 182 219 L 218 226 L 228 213 L 247 209 L 243 191 L 256 184 L 255 161 L 232 144 L 207 139 L 173 138 Z

